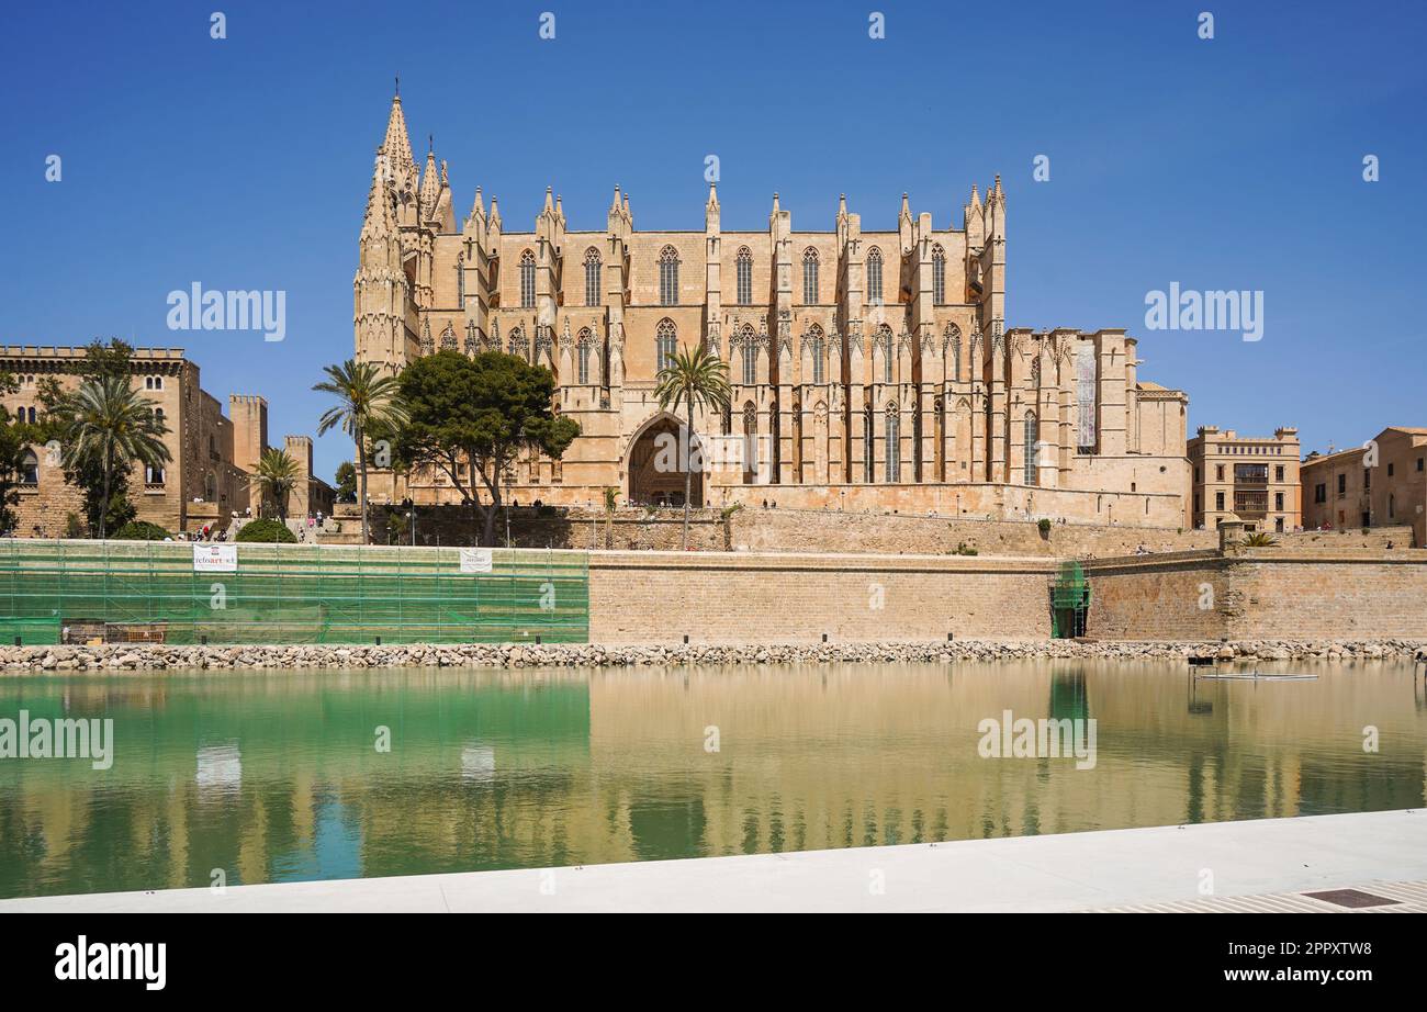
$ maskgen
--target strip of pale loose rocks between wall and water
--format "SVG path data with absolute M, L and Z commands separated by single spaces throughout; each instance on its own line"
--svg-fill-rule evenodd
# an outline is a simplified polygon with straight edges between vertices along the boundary
M 598 644 L 405 644 L 382 647 L 0 647 L 10 674 L 61 671 L 233 671 L 281 668 L 586 668 L 688 664 L 950 662 L 1082 658 L 1107 661 L 1427 661 L 1427 639 L 1076 642 L 1070 639 L 882 644 L 601 647 Z

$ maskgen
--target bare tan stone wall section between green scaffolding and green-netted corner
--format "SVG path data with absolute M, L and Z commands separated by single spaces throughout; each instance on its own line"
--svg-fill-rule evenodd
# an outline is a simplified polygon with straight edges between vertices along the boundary
M 1052 571 L 1040 560 L 598 552 L 589 639 L 1046 638 Z

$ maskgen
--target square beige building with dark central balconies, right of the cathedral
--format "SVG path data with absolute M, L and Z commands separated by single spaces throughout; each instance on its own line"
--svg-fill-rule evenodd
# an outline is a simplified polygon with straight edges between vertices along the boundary
M 1239 435 L 1202 425 L 1189 441 L 1189 527 L 1214 530 L 1237 517 L 1246 531 L 1293 531 L 1303 524 L 1299 430 Z

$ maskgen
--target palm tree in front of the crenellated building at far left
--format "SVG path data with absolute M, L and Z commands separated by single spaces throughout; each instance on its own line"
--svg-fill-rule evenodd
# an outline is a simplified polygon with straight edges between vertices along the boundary
M 56 404 L 60 422 L 61 462 L 68 471 L 93 465 L 103 471 L 104 498 L 98 514 L 100 540 L 108 532 L 108 497 L 116 468 L 136 462 L 161 468 L 173 460 L 163 437 L 168 427 L 154 405 L 130 383 L 128 375 L 90 377 Z

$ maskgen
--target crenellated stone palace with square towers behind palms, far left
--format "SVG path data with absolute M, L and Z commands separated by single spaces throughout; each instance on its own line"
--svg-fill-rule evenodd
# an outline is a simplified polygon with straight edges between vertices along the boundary
M 61 388 L 80 383 L 86 363 L 83 347 L 0 347 L 0 371 L 13 375 L 19 390 L 0 403 L 13 417 L 36 421 L 41 413 L 40 383 L 53 377 Z M 233 514 L 257 512 L 258 491 L 250 482 L 267 442 L 267 401 L 234 395 L 230 413 L 203 390 L 197 363 L 183 348 L 134 348 L 128 363 L 136 390 L 154 405 L 168 428 L 164 444 L 170 461 L 161 468 L 136 465 L 128 475 L 130 501 L 137 518 L 168 531 L 198 531 L 207 524 L 227 527 Z M 291 515 L 304 508 L 331 512 L 331 487 L 313 475 L 311 440 L 288 437 L 287 450 L 303 468 L 298 490 L 288 501 Z M 20 468 L 17 537 L 56 538 L 70 528 L 70 515 L 83 515 L 77 488 L 64 481 L 57 452 L 30 447 Z

